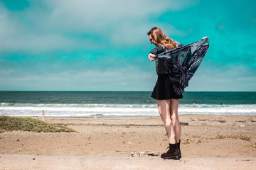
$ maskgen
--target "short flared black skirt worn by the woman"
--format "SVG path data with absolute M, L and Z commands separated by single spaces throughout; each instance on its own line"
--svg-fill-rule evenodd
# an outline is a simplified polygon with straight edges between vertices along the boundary
M 156 86 L 151 97 L 157 100 L 169 100 L 171 98 L 183 98 L 182 94 L 177 95 L 168 77 L 168 74 L 158 74 Z

